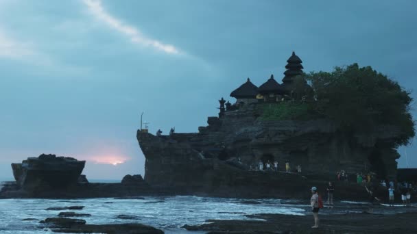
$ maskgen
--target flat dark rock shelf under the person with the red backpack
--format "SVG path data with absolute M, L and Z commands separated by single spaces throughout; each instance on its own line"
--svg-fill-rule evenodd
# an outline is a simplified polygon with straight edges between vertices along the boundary
M 184 225 L 189 231 L 208 231 L 208 233 L 417 233 L 413 220 L 417 213 L 398 213 L 392 215 L 347 213 L 322 216 L 319 213 L 320 228 L 311 229 L 313 216 L 289 216 L 263 214 L 260 220 L 207 220 L 207 224 Z

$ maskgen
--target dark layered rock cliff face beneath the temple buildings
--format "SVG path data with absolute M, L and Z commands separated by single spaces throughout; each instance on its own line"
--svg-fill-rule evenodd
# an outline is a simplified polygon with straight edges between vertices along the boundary
M 265 121 L 257 107 L 247 105 L 226 111 L 221 118 L 209 117 L 199 133 L 154 136 L 138 131 L 146 157 L 145 181 L 181 191 L 218 192 L 222 187 L 242 192 L 237 187 L 252 186 L 261 192 L 265 190 L 261 185 L 307 185 L 301 175 L 334 180 L 338 170 L 351 177 L 372 171 L 381 179 L 395 179 L 398 153 L 386 144 L 396 137 L 395 129 L 348 136 L 329 120 Z M 278 161 L 281 172 L 250 170 L 259 161 Z M 285 162 L 291 171 L 300 165 L 302 173 L 282 172 Z

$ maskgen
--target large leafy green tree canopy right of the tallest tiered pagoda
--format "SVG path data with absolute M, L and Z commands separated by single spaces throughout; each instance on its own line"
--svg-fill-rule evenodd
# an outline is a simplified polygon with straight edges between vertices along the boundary
M 344 131 L 366 133 L 381 125 L 394 125 L 401 131 L 395 146 L 409 144 L 414 137 L 410 92 L 370 66 L 352 64 L 331 73 L 310 73 L 306 78 L 319 100 L 315 110 L 338 122 Z

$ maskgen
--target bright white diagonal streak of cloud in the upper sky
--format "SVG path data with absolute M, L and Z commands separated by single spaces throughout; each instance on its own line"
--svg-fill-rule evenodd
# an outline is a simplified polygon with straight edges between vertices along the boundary
M 112 27 L 113 29 L 119 31 L 121 34 L 124 34 L 130 37 L 130 40 L 135 44 L 141 44 L 145 47 L 153 47 L 154 49 L 158 49 L 165 53 L 169 54 L 179 54 L 180 51 L 176 47 L 171 44 L 164 44 L 158 40 L 154 40 L 151 38 L 147 38 L 141 34 L 139 29 L 132 27 L 130 25 L 126 25 L 122 23 L 121 20 L 115 18 L 114 16 L 108 14 L 106 10 L 104 10 L 102 6 L 102 2 L 100 0 L 83 0 L 83 2 L 87 5 L 88 10 L 93 13 L 93 15 L 99 19 L 99 21 L 103 21 L 108 26 Z

